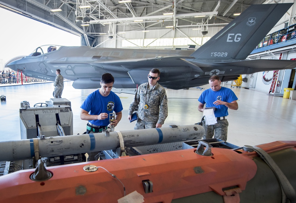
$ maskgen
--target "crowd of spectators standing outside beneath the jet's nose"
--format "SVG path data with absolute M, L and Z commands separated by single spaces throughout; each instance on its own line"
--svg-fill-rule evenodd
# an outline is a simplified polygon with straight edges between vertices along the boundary
M 13 84 L 13 83 L 20 83 L 20 82 L 44 82 L 45 80 L 33 78 L 33 77 L 26 77 L 24 74 L 19 73 L 17 77 L 17 72 L 5 70 L 0 71 L 0 84 Z M 21 81 L 22 79 L 22 81 Z

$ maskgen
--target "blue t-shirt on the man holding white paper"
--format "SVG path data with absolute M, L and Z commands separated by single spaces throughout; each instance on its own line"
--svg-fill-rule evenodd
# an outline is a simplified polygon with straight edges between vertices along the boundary
M 202 104 L 206 104 L 206 107 L 216 107 L 214 111 L 215 117 L 228 116 L 228 107 L 225 105 L 215 105 L 215 101 L 221 100 L 227 103 L 238 100 L 234 92 L 226 87 L 221 87 L 218 91 L 213 91 L 212 89 L 207 89 L 202 92 L 198 101 Z

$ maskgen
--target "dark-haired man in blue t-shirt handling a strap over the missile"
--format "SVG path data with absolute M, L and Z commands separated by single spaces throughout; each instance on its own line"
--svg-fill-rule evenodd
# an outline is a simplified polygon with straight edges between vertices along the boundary
M 107 129 L 109 124 L 117 126 L 123 110 L 119 97 L 111 91 L 114 77 L 105 73 L 101 77 L 101 88 L 92 92 L 81 105 L 80 118 L 89 121 L 86 133 L 99 133 Z M 110 123 L 110 113 L 115 112 L 115 120 Z M 98 152 L 89 152 L 88 161 L 94 161 Z

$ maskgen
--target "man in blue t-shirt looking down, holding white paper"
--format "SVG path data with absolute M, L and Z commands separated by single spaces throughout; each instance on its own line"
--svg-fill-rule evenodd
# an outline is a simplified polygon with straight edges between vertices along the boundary
M 205 135 L 203 139 L 214 138 L 227 140 L 228 129 L 228 108 L 237 110 L 239 108 L 237 104 L 237 96 L 234 92 L 226 87 L 221 87 L 220 78 L 216 75 L 209 79 L 210 89 L 205 90 L 198 98 L 200 104 L 198 105 L 198 111 L 203 112 L 204 107 L 215 107 L 215 117 L 217 123 L 214 125 L 206 125 L 205 120 L 202 121 L 202 125 L 205 128 Z M 215 131 L 215 133 L 214 133 Z

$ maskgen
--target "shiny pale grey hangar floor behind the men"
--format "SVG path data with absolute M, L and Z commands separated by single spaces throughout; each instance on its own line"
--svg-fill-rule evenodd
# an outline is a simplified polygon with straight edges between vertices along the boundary
M 225 87 L 230 85 L 225 84 Z M 202 86 L 209 88 L 209 85 Z M 1 85 L 0 95 L 6 96 L 6 102 L 0 104 L 0 141 L 20 139 L 19 108 L 21 101 L 28 101 L 30 106 L 45 103 L 52 98 L 54 90 L 52 82 L 25 83 L 25 85 Z M 80 119 L 81 104 L 95 89 L 74 89 L 72 81 L 65 82 L 63 98 L 71 101 L 73 111 L 73 134 L 86 131 L 87 121 Z M 266 93 L 244 88 L 232 88 L 238 97 L 237 111 L 229 110 L 229 127 L 227 142 L 237 146 L 258 145 L 277 140 L 296 140 L 296 100 L 275 97 Z M 190 125 L 202 118 L 197 110 L 198 98 L 203 90 L 167 89 L 168 118 L 165 126 Z M 123 117 L 115 128 L 116 131 L 131 130 L 134 122 L 127 119 L 128 107 L 133 99 L 132 94 L 118 94 L 123 104 Z

